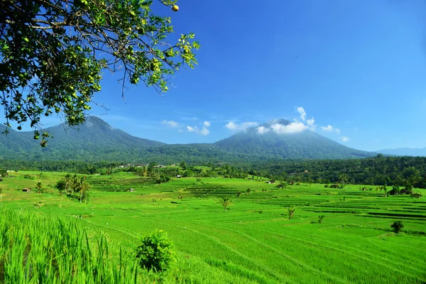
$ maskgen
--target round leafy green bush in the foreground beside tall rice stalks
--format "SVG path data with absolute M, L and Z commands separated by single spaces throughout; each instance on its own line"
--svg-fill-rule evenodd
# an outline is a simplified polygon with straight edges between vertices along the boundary
M 154 231 L 142 239 L 142 244 L 136 248 L 136 257 L 141 268 L 148 271 L 166 271 L 175 260 L 175 253 L 171 250 L 172 243 L 163 230 Z

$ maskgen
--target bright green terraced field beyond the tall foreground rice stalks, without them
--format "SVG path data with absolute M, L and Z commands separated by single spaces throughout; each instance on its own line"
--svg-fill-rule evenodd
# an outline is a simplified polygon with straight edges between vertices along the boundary
M 140 270 L 138 283 L 426 283 L 425 197 L 383 197 L 375 187 L 361 191 L 359 185 L 278 190 L 264 180 L 224 178 L 153 185 L 116 173 L 87 176 L 90 200 L 80 204 L 54 189 L 64 173 L 38 174 L 4 178 L 1 207 L 72 220 L 93 237 L 104 235 L 110 255 L 120 247 L 131 255 L 141 236 L 168 232 L 175 265 L 161 276 Z M 21 191 L 34 189 L 38 180 L 45 193 Z M 220 197 L 231 197 L 228 209 Z M 289 207 L 295 208 L 293 219 Z M 395 221 L 405 225 L 400 234 L 391 230 Z

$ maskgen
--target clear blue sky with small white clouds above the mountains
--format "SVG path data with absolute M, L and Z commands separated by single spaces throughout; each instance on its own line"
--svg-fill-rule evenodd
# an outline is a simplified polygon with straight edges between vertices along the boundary
M 92 115 L 166 143 L 214 142 L 283 118 L 361 150 L 426 147 L 425 1 L 178 5 L 155 12 L 170 14 L 178 35 L 195 33 L 199 65 L 163 97 L 129 87 L 125 102 L 119 75 L 105 74 L 94 100 L 109 111 Z

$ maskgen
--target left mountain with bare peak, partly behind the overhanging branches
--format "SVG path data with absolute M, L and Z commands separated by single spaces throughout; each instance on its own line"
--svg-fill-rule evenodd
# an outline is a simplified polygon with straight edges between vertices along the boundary
M 78 129 L 65 129 L 63 124 L 46 129 L 53 138 L 48 146 L 40 147 L 33 132 L 10 130 L 0 136 L 1 158 L 19 160 L 129 160 L 141 157 L 149 148 L 165 145 L 158 141 L 138 138 L 114 129 L 102 119 L 87 117 Z

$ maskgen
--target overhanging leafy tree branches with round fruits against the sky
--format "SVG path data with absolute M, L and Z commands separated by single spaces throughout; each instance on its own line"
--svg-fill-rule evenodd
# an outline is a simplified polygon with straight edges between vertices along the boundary
M 158 0 L 178 11 L 175 0 Z M 58 114 L 82 124 L 101 90 L 102 72 L 120 72 L 126 84 L 168 90 L 169 78 L 197 64 L 194 33 L 175 43 L 171 18 L 145 0 L 4 0 L 0 2 L 0 102 L 7 127 L 29 121 L 46 145 L 40 118 Z M 7 131 L 7 128 L 6 128 Z M 41 134 L 40 134 L 41 131 Z

